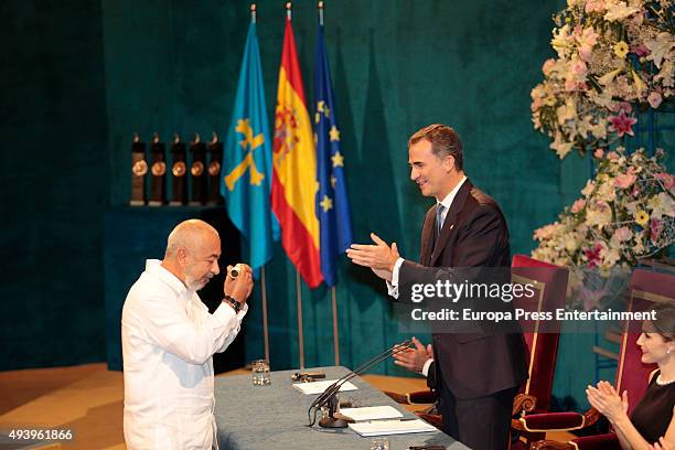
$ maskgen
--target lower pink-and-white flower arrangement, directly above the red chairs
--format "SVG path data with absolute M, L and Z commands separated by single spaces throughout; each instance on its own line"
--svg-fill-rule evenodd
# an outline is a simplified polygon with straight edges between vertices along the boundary
M 567 267 L 632 267 L 675 242 L 675 176 L 644 149 L 596 150 L 597 173 L 558 221 L 534 233 L 536 259 Z

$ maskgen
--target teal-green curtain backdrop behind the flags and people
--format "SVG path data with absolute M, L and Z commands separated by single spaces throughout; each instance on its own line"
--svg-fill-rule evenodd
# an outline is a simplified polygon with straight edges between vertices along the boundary
M 283 1 L 259 1 L 258 38 L 274 117 Z M 335 0 L 325 33 L 357 242 L 369 232 L 416 259 L 426 208 L 409 181 L 408 136 L 454 127 L 472 181 L 502 205 L 513 253 L 551 222 L 589 176 L 587 160 L 560 163 L 529 119 L 529 90 L 553 56 L 556 1 Z M 105 358 L 101 216 L 128 201 L 133 132 L 224 136 L 249 21 L 243 1 L 38 0 L 4 2 L 0 49 L 6 270 L 0 369 Z M 312 110 L 313 1 L 293 29 Z M 272 121 L 274 124 L 274 121 Z M 163 240 L 165 236 L 158 236 Z M 236 238 L 228 236 L 227 239 Z M 138 265 L 139 261 L 119 261 Z M 341 357 L 354 367 L 408 338 L 384 283 L 343 260 L 336 288 Z M 296 272 L 277 246 L 267 269 L 271 365 L 299 358 Z M 306 365 L 333 362 L 330 291 L 302 287 Z M 262 356 L 260 289 L 246 321 L 249 360 Z M 428 336 L 422 336 L 428 341 Z M 590 345 L 561 350 L 590 354 Z M 582 347 L 583 346 L 583 347 Z M 403 375 L 393 364 L 374 369 Z M 590 376 L 590 372 L 589 372 Z M 557 382 L 567 395 L 574 379 Z

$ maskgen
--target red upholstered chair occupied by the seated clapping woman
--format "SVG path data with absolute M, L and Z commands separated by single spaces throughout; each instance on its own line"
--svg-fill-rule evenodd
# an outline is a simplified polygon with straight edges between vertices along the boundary
M 629 311 L 645 311 L 653 309 L 654 304 L 672 303 L 675 304 L 675 276 L 647 270 L 636 269 L 631 277 Z M 642 351 L 636 341 L 641 333 L 641 323 L 625 322 L 619 352 L 619 364 L 617 367 L 615 387 L 618 392 L 628 390 L 629 416 L 644 395 L 649 385 L 650 374 L 656 368 L 655 364 L 643 364 Z M 572 414 L 572 413 L 568 413 Z M 593 408 L 579 415 L 583 418 L 583 426 L 594 424 L 600 415 Z M 547 431 L 555 430 L 555 427 L 547 428 Z M 543 440 L 535 442 L 532 449 L 586 449 L 604 450 L 619 448 L 617 435 L 613 432 L 606 435 L 588 436 L 572 439 L 569 442 L 554 442 Z

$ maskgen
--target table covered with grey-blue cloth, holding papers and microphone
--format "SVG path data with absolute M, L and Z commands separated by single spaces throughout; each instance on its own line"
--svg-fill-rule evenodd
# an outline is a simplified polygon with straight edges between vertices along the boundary
M 325 379 L 345 375 L 345 367 L 314 367 L 309 372 L 323 372 Z M 318 425 L 308 427 L 307 410 L 317 395 L 304 395 L 291 386 L 291 375 L 298 371 L 271 372 L 271 386 L 253 386 L 250 375 L 215 378 L 215 418 L 218 426 L 221 450 L 278 450 L 278 449 L 369 449 L 371 438 L 362 438 L 349 428 L 326 429 Z M 341 401 L 352 400 L 354 406 L 390 405 L 404 418 L 415 415 L 361 377 L 351 382 L 358 390 L 341 392 Z M 448 449 L 467 449 L 441 431 L 387 436 L 392 450 L 409 446 L 440 444 Z

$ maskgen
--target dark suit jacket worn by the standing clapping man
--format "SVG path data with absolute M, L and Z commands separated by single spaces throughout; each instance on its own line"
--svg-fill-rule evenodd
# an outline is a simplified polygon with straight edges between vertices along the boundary
M 398 282 L 403 296 L 414 283 L 452 279 L 452 268 L 510 266 L 508 229 L 493 199 L 465 180 L 448 211 L 438 239 L 435 239 L 436 207 L 432 206 L 425 217 L 421 264 L 406 260 L 400 267 Z M 406 301 L 403 297 L 400 300 Z M 491 395 L 519 386 L 527 377 L 522 334 L 478 329 L 469 333 L 433 333 L 432 336 L 437 383 L 442 376 L 457 398 Z

